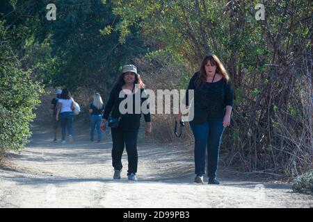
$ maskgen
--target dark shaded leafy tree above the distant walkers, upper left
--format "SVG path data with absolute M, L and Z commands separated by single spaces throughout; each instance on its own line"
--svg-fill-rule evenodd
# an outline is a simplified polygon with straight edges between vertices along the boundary
M 15 24 L 16 49 L 19 56 L 26 56 L 23 65 L 32 67 L 36 79 L 45 85 L 103 91 L 121 65 L 146 52 L 138 29 L 131 28 L 123 44 L 118 42 L 118 32 L 104 29 L 120 23 L 109 1 L 54 1 L 55 21 L 46 19 L 48 3 L 17 1 L 15 10 L 5 17 L 7 26 Z

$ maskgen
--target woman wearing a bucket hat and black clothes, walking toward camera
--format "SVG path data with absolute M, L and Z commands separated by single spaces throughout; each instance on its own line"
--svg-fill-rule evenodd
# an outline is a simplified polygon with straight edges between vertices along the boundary
M 136 85 L 136 87 L 135 87 Z M 112 164 L 114 167 L 113 179 L 120 179 L 120 173 L 122 171 L 122 153 L 124 151 L 124 146 L 126 147 L 127 157 L 128 157 L 128 179 L 137 180 L 136 172 L 138 166 L 138 152 L 137 152 L 137 139 L 138 139 L 138 129 L 140 126 L 141 119 L 141 104 L 147 98 L 142 98 L 145 94 L 145 85 L 141 80 L 141 76 L 137 74 L 137 69 L 134 65 L 125 65 L 123 67 L 122 74 L 118 78 L 117 83 L 111 90 L 109 100 L 106 103 L 104 109 L 104 114 L 102 117 L 102 122 L 105 123 L 111 117 L 115 119 L 120 119 L 120 124 L 118 128 L 111 128 L 113 149 L 112 149 Z M 120 93 L 124 94 L 123 98 L 120 98 Z M 139 95 L 138 95 L 139 94 Z M 140 101 L 136 103 L 136 96 L 139 96 Z M 127 99 L 131 99 L 132 112 L 124 112 L 121 110 L 120 103 Z M 145 96 L 143 96 L 145 97 Z M 138 98 L 138 97 L 137 97 Z M 139 112 L 138 112 L 139 110 Z M 137 112 L 136 112 L 137 111 Z M 125 113 L 125 114 L 122 114 Z M 145 135 L 148 136 L 152 132 L 150 112 L 143 114 L 145 117 L 145 122 L 147 123 L 145 129 Z

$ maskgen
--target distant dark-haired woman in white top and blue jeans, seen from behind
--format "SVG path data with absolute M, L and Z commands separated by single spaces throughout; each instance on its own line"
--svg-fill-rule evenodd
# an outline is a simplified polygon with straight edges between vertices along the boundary
M 67 88 L 62 89 L 60 98 L 58 99 L 58 110 L 56 112 L 56 121 L 61 120 L 62 126 L 62 144 L 65 144 L 66 128 L 68 131 L 68 139 L 73 142 L 73 110 L 74 100 Z

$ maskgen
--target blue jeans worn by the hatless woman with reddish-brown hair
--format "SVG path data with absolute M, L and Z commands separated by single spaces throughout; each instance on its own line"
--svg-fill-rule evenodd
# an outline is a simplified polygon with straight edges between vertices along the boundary
M 202 124 L 189 122 L 195 137 L 195 174 L 205 174 L 205 153 L 207 149 L 207 176 L 216 178 L 223 119 L 210 119 Z

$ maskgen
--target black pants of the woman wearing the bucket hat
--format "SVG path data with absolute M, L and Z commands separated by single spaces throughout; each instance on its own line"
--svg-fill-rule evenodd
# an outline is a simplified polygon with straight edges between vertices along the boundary
M 120 128 L 111 128 L 111 135 L 113 140 L 112 149 L 112 165 L 114 169 L 122 169 L 122 154 L 126 146 L 128 157 L 128 174 L 137 173 L 138 166 L 138 152 L 137 139 L 138 130 L 126 131 Z

